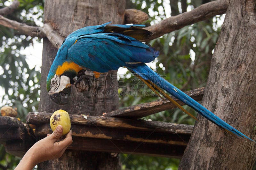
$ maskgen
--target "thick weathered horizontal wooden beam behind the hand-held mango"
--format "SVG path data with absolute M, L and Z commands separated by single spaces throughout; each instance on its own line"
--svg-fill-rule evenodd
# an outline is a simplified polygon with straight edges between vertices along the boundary
M 36 124 L 37 137 L 52 133 L 51 115 L 28 114 L 27 122 Z M 85 118 L 72 113 L 70 121 L 73 143 L 68 149 L 172 158 L 182 156 L 193 129 L 191 125 L 89 115 Z

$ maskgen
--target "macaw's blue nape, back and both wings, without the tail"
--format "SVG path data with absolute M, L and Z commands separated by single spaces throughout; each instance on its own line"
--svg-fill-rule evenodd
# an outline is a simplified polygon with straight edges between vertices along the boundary
M 69 34 L 57 52 L 47 82 L 54 76 L 59 65 L 65 61 L 74 61 L 88 70 L 107 72 L 116 70 L 118 66 L 124 66 L 127 61 L 132 61 L 127 57 L 141 56 L 144 58 L 145 55 L 140 55 L 141 52 L 148 54 L 152 51 L 154 53 L 151 47 L 137 41 L 144 40 L 152 34 L 150 31 L 142 29 L 144 25 L 108 25 L 109 23 L 111 22 L 98 26 L 87 26 Z M 103 41 L 106 41 L 106 44 L 101 43 Z M 130 45 L 130 48 L 126 49 L 125 43 Z M 119 47 L 119 44 L 123 44 L 122 48 Z M 107 55 L 108 52 L 113 56 Z M 120 58 L 118 52 L 124 56 Z M 104 55 L 107 56 L 104 57 Z M 99 58 L 97 59 L 97 57 Z M 143 61 L 150 62 L 154 60 L 154 57 L 152 58 L 150 54 L 145 56 Z M 114 59 L 116 59 L 116 65 Z

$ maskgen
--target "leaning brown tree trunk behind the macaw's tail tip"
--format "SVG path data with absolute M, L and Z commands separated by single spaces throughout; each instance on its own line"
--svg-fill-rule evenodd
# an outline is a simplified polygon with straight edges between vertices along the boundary
M 232 0 L 212 56 L 202 104 L 256 139 L 255 1 Z M 252 169 L 256 145 L 198 116 L 180 169 Z

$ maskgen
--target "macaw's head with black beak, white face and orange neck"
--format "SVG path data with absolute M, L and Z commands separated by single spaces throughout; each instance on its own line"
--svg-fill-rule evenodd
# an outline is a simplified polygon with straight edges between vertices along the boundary
M 67 97 L 71 93 L 71 84 L 77 72 L 82 68 L 74 62 L 64 62 L 55 66 L 54 62 L 47 77 L 46 88 L 51 99 L 60 105 L 68 103 Z

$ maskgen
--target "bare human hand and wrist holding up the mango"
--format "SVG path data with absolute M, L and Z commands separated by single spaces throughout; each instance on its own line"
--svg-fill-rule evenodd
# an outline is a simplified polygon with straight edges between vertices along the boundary
M 67 133 L 66 138 L 60 140 L 63 127 L 59 125 L 52 134 L 36 142 L 21 159 L 18 169 L 33 169 L 36 164 L 60 158 L 68 145 L 72 144 L 71 130 Z

